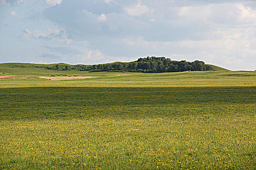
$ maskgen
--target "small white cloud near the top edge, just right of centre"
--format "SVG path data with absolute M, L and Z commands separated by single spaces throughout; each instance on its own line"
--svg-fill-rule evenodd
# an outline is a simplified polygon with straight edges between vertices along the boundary
M 140 1 L 138 1 L 137 4 L 125 7 L 124 11 L 129 16 L 141 16 L 141 15 L 153 12 L 153 10 L 149 9 L 146 5 L 141 5 Z

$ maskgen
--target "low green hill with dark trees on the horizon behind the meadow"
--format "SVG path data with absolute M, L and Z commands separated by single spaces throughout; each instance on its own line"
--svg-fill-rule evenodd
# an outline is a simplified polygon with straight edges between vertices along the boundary
M 182 72 L 182 71 L 226 71 L 214 65 L 206 65 L 203 61 L 187 62 L 173 61 L 165 57 L 139 58 L 133 62 L 114 62 L 97 65 L 69 65 L 65 63 L 57 64 L 30 64 L 30 63 L 4 63 L 0 64 L 1 72 L 10 72 L 22 68 L 23 71 L 32 71 L 32 68 L 47 70 L 78 70 L 78 71 L 108 71 L 108 72 Z

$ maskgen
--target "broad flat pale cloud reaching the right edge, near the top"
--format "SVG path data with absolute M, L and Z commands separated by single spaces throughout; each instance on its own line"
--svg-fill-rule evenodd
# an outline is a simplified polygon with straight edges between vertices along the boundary
M 256 11 L 241 3 L 185 6 L 179 8 L 177 14 L 183 22 L 199 21 L 227 26 L 256 23 Z

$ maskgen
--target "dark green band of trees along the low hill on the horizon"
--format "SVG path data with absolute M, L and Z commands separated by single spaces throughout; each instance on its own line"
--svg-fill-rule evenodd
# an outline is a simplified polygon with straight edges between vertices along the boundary
M 45 69 L 57 69 L 57 70 L 70 70 L 76 69 L 79 71 L 117 71 L 117 72 L 179 72 L 179 71 L 204 71 L 208 70 L 208 67 L 203 61 L 188 62 L 182 61 L 172 61 L 170 58 L 165 57 L 146 57 L 139 58 L 137 61 L 133 62 L 115 62 L 107 64 L 97 64 L 97 65 L 43 65 L 40 66 Z

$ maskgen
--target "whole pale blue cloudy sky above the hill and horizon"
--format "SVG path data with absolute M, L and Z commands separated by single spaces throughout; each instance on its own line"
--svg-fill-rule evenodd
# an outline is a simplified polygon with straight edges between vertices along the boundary
M 147 56 L 256 70 L 256 0 L 0 0 L 0 63 Z

